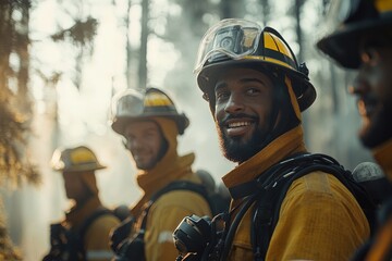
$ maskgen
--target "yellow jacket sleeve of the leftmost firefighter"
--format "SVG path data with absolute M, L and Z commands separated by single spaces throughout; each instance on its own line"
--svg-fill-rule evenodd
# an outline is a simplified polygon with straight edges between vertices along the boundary
M 113 215 L 102 215 L 91 223 L 86 232 L 84 241 L 87 261 L 109 261 L 113 252 L 109 246 L 110 231 L 120 224 Z

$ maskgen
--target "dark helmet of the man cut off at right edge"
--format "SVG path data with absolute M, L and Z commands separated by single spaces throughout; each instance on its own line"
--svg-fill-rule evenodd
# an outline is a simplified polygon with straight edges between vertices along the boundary
M 357 69 L 360 35 L 381 34 L 383 37 L 375 39 L 378 41 L 385 38 L 383 32 L 392 32 L 392 0 L 336 0 L 331 4 L 328 18 L 338 26 L 319 40 L 317 47 L 343 67 Z M 391 37 L 385 41 L 387 46 L 392 45 Z

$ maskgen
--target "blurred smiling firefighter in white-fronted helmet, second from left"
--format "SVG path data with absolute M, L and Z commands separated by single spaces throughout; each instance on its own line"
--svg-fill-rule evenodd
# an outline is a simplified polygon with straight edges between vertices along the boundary
M 177 154 L 177 136 L 184 134 L 189 121 L 157 88 L 147 88 L 145 94 L 125 90 L 113 98 L 112 110 L 111 126 L 123 136 L 143 190 L 131 209 L 135 223 L 130 236 L 124 240 L 118 238 L 123 235 L 122 226 L 113 231 L 117 260 L 175 260 L 177 250 L 172 233 L 182 217 L 192 213 L 211 215 L 204 195 L 187 186 L 170 188 L 173 184 L 201 187 L 200 178 L 192 170 L 195 154 Z

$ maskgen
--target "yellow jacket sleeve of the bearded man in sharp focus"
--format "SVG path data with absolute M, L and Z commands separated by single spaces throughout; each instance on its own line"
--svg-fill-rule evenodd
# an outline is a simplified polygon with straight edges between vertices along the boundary
M 368 236 L 353 195 L 334 176 L 313 173 L 289 189 L 267 260 L 350 260 Z

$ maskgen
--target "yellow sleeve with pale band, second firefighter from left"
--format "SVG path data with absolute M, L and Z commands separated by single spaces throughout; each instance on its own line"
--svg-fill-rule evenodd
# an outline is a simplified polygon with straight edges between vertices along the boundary
M 179 256 L 172 234 L 191 214 L 211 215 L 208 202 L 192 191 L 171 191 L 149 210 L 145 234 L 146 261 L 175 260 Z

